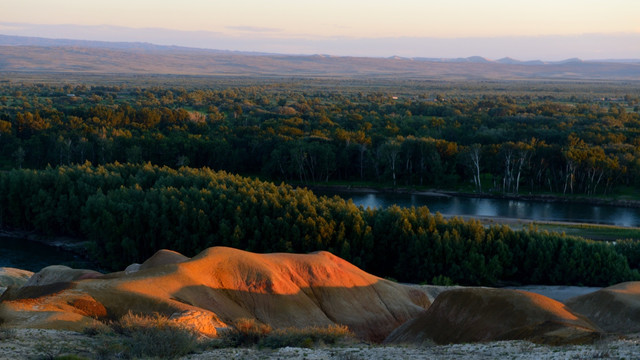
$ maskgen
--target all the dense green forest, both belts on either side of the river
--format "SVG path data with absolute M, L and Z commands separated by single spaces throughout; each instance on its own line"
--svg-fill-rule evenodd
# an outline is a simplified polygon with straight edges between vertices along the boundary
M 86 238 L 92 257 L 109 269 L 161 248 L 191 256 L 225 245 L 328 250 L 409 282 L 601 286 L 640 279 L 639 241 L 485 227 L 426 207 L 363 209 L 284 183 L 634 196 L 638 89 L 4 81 L 0 227 Z

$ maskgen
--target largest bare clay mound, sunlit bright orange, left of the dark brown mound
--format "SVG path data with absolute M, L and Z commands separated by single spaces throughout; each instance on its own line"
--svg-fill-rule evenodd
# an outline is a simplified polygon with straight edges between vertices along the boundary
M 430 305 L 423 292 L 328 252 L 254 254 L 215 247 L 188 259 L 165 250 L 127 272 L 75 277 L 81 272 L 47 271 L 34 277 L 59 281 L 34 281 L 0 297 L 0 322 L 79 330 L 131 310 L 172 316 L 206 335 L 250 318 L 274 328 L 342 324 L 362 339 L 382 341 Z

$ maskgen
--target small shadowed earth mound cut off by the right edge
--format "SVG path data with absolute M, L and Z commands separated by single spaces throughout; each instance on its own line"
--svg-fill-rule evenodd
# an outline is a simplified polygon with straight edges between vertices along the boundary
M 640 332 L 640 282 L 616 284 L 571 298 L 566 304 L 607 332 Z

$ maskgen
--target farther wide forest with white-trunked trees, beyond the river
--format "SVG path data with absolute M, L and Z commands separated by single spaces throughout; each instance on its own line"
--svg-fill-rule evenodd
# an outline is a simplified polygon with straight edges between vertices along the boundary
M 634 83 L 199 84 L 4 82 L 0 166 L 151 162 L 510 194 L 640 185 Z

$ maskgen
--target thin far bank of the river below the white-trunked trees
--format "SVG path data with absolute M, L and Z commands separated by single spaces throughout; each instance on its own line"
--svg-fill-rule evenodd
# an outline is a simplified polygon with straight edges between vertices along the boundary
M 453 190 L 417 190 L 408 187 L 373 187 L 373 186 L 352 186 L 352 185 L 323 185 L 297 184 L 295 186 L 306 187 L 311 191 L 326 192 L 352 192 L 352 193 L 387 193 L 387 194 L 410 194 L 410 195 L 426 195 L 441 197 L 467 197 L 480 199 L 502 199 L 502 200 L 525 200 L 539 201 L 549 203 L 574 203 L 586 205 L 607 205 L 627 208 L 640 208 L 640 200 L 619 199 L 619 198 L 600 198 L 582 195 L 561 196 L 552 194 L 502 194 L 502 193 L 469 193 Z

